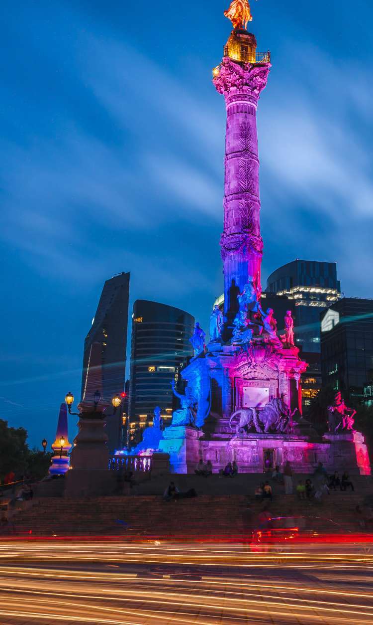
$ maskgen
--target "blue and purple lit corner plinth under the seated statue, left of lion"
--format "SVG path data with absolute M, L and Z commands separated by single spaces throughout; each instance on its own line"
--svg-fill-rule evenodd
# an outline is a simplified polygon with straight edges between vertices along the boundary
M 195 427 L 167 427 L 159 449 L 170 454 L 172 473 L 193 473 L 200 459 L 200 438 L 203 432 Z

